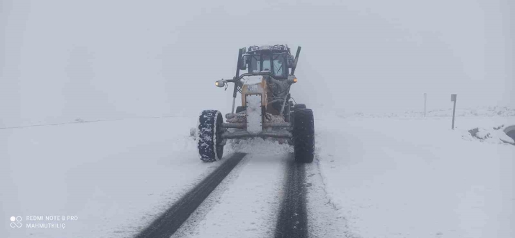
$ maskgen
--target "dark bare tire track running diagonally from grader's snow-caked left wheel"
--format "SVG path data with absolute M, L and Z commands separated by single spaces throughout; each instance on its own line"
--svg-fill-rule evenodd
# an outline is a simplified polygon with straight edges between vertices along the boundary
M 202 182 L 186 193 L 180 200 L 177 200 L 172 207 L 166 210 L 164 214 L 161 214 L 136 237 L 171 237 L 244 157 L 244 153 L 236 153 L 226 159 L 221 166 L 207 175 Z

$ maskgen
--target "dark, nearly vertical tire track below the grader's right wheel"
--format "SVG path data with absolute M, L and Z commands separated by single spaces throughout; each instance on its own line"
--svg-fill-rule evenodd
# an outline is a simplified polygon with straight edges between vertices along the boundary
M 288 161 L 285 195 L 281 205 L 277 226 L 277 238 L 308 237 L 308 219 L 306 215 L 306 166 Z

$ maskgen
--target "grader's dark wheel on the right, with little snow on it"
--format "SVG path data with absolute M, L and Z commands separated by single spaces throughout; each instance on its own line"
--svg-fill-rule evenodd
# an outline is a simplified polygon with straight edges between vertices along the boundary
M 296 109 L 294 115 L 294 159 L 298 163 L 311 163 L 313 157 L 315 157 L 315 122 L 313 111 L 311 109 Z

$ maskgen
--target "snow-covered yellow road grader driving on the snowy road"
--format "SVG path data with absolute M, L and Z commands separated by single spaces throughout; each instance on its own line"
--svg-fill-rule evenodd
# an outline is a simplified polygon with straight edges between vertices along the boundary
M 236 75 L 214 84 L 227 89 L 234 84 L 232 111 L 205 110 L 198 118 L 196 139 L 200 159 L 218 161 L 228 139 L 282 138 L 294 148 L 294 160 L 311 163 L 315 152 L 313 112 L 305 104 L 296 104 L 290 87 L 296 84 L 294 75 L 301 47 L 295 57 L 287 45 L 251 46 L 238 51 Z M 239 74 L 240 70 L 247 70 Z M 237 94 L 241 106 L 235 111 Z

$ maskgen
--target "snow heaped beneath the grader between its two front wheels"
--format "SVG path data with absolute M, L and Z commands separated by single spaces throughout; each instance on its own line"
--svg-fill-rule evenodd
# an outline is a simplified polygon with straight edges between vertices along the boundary
M 293 152 L 293 147 L 287 143 L 280 144 L 273 138 L 248 138 L 245 140 L 228 141 L 226 148 L 229 152 L 243 152 L 248 154 L 283 154 Z

